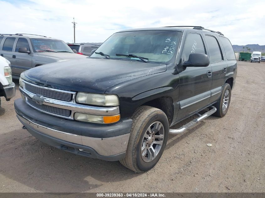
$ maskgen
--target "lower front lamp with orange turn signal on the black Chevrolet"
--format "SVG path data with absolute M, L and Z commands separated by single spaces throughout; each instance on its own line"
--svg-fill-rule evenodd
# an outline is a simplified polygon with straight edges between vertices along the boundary
M 102 115 L 75 113 L 74 117 L 75 120 L 78 121 L 109 124 L 109 123 L 118 122 L 120 119 L 120 114 L 112 116 L 102 116 Z

